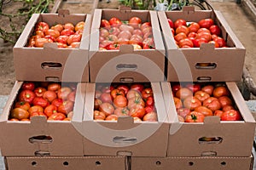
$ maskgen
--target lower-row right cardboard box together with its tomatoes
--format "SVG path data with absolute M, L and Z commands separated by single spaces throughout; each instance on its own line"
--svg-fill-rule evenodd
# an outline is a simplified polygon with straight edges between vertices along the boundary
M 251 156 L 255 120 L 236 82 L 161 87 L 171 122 L 167 156 Z

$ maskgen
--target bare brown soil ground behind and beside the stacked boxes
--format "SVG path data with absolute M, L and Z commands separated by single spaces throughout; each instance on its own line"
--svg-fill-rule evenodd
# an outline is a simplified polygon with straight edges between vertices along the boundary
M 106 3 L 107 0 L 102 0 L 97 4 L 98 8 L 117 8 L 119 6 L 118 0 L 111 0 L 111 3 Z M 215 9 L 220 10 L 224 14 L 224 18 L 230 24 L 232 30 L 236 33 L 236 36 L 241 43 L 247 49 L 247 55 L 245 59 L 245 66 L 256 81 L 256 49 L 253 44 L 256 41 L 256 24 L 255 19 L 250 18 L 241 9 L 241 6 L 236 1 L 212 1 L 212 5 Z M 255 2 L 253 0 L 253 2 Z M 93 0 L 80 0 L 77 1 L 67 0 L 61 4 L 61 8 L 68 8 L 70 13 L 93 13 L 95 1 Z M 4 8 L 9 11 L 14 11 L 17 8 L 15 5 L 9 4 Z M 0 18 L 0 20 L 3 20 Z M 20 20 L 21 21 L 21 20 Z M 2 22 L 2 24 L 5 22 Z M 242 27 L 241 27 L 242 26 Z M 0 39 L 0 95 L 9 95 L 14 83 L 15 83 L 15 69 L 14 69 L 14 57 L 12 53 L 13 45 L 7 42 L 3 42 Z M 29 69 L 29 68 L 28 68 Z

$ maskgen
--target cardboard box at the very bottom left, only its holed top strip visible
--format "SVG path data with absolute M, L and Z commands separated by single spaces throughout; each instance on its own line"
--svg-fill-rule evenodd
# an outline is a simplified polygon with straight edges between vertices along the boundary
M 124 156 L 31 156 L 5 157 L 8 169 L 90 169 L 90 170 L 126 170 Z

